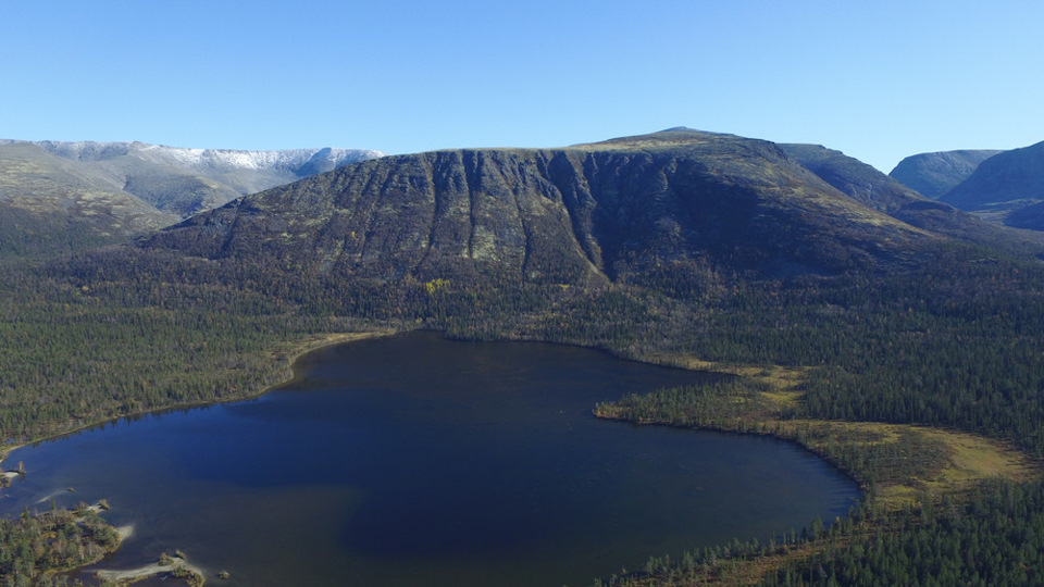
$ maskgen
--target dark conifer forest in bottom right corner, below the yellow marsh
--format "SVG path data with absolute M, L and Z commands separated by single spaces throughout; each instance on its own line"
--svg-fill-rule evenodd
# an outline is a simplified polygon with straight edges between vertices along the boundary
M 762 570 L 768 570 L 762 574 Z M 766 587 L 1040 585 L 1044 487 L 996 480 L 967 495 L 925 497 L 902 511 L 863 502 L 837 523 L 767 539 L 651 557 L 609 587 L 756 584 Z

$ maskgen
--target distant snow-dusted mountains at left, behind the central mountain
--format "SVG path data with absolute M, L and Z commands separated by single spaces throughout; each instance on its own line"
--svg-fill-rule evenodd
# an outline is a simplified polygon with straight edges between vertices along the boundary
M 247 193 L 383 154 L 0 140 L 0 254 L 123 240 Z

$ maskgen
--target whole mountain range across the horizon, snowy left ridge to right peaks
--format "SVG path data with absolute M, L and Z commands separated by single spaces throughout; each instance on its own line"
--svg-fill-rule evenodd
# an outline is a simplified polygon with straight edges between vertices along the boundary
M 186 221 L 147 242 L 202 257 L 278 250 L 301 266 L 377 274 L 477 275 L 513 259 L 517 282 L 614 279 L 644 273 L 650 259 L 713 257 L 831 274 L 858 260 L 899 262 L 933 235 L 1015 238 L 953 207 L 1044 228 L 1042 153 L 1044 143 L 925 153 L 890 177 L 821 146 L 683 127 L 562 149 L 391 158 L 0 140 L 0 255 L 82 250 Z M 910 184 L 954 187 L 932 200 Z

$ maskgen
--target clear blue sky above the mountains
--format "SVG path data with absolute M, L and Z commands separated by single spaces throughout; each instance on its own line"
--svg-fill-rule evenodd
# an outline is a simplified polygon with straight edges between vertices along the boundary
M 1044 140 L 1044 2 L 0 0 L 0 138 L 391 153 Z

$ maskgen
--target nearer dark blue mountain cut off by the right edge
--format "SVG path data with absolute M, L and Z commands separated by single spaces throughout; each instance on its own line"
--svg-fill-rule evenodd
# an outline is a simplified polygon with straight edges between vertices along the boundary
M 940 200 L 1008 226 L 1044 230 L 1044 142 L 983 161 Z

